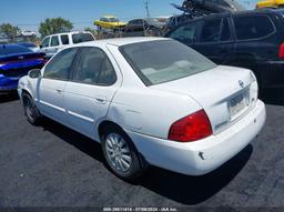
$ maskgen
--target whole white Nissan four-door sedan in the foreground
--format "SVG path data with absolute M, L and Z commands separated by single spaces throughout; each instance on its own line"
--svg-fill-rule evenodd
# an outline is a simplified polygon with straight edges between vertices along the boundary
M 100 142 L 124 180 L 149 164 L 209 173 L 243 150 L 266 118 L 253 72 L 217 67 L 162 38 L 70 47 L 21 78 L 18 92 L 29 122 L 44 115 Z

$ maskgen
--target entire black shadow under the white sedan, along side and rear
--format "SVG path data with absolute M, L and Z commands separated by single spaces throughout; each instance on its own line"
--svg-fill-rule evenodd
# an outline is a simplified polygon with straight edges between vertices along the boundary
M 43 119 L 41 125 L 44 130 L 105 165 L 99 143 L 50 119 Z M 250 144 L 221 168 L 202 176 L 189 176 L 152 166 L 145 175 L 132 184 L 144 186 L 182 204 L 195 205 L 212 198 L 226 186 L 245 166 L 252 152 L 253 147 Z M 106 169 L 109 170 L 108 166 Z

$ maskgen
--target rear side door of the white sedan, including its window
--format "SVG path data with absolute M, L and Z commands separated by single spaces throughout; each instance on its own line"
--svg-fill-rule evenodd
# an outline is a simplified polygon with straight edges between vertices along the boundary
M 120 87 L 111 60 L 100 48 L 81 48 L 72 81 L 65 85 L 69 124 L 90 138 L 94 138 L 95 123 L 106 115 Z

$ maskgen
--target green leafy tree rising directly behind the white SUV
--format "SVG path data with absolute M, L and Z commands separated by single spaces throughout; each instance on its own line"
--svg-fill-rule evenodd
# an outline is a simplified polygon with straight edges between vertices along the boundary
M 73 24 L 69 20 L 65 20 L 59 17 L 59 18 L 45 19 L 44 22 L 41 22 L 39 32 L 43 38 L 49 34 L 67 32 L 67 31 L 70 31 L 71 29 L 73 29 Z

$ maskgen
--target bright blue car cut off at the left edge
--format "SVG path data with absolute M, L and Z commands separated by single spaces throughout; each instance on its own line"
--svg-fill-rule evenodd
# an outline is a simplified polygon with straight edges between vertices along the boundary
M 44 55 L 19 44 L 0 44 L 0 93 L 17 91 L 21 77 L 44 65 Z

